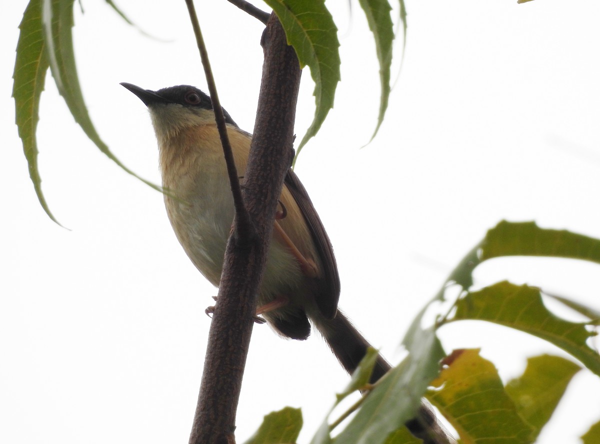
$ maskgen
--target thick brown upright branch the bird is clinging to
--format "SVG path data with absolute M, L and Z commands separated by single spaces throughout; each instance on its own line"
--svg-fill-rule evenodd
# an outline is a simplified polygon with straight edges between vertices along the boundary
M 256 235 L 241 238 L 236 214 L 209 331 L 190 444 L 235 442 L 236 409 L 256 297 L 271 241 L 277 199 L 293 157 L 300 66 L 274 15 L 267 23 L 262 44 L 263 78 L 242 191 Z

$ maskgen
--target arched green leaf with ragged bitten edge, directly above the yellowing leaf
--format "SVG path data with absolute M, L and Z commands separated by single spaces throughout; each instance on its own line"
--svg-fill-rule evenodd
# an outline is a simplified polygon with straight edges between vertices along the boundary
M 449 321 L 461 319 L 487 320 L 547 340 L 600 375 L 600 355 L 586 343 L 596 333 L 587 330 L 587 323 L 569 322 L 550 313 L 539 289 L 503 281 L 469 292 L 457 301 L 455 316 Z

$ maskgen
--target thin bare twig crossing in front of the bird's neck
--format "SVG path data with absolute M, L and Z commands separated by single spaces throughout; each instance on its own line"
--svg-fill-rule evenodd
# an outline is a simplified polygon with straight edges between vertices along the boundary
M 233 193 L 233 205 L 235 206 L 235 214 L 237 225 L 236 229 L 240 233 L 248 233 L 251 230 L 250 216 L 244 205 L 244 199 L 242 198 L 242 190 L 239 186 L 238 171 L 233 161 L 233 152 L 231 144 L 229 143 L 229 137 L 227 136 L 227 127 L 225 124 L 225 116 L 223 115 L 223 108 L 219 101 L 217 94 L 217 86 L 215 85 L 214 76 L 212 76 L 211 62 L 208 59 L 208 52 L 202 38 L 202 32 L 200 31 L 200 23 L 196 15 L 196 8 L 194 8 L 193 0 L 185 0 L 185 4 L 188 7 L 190 13 L 191 25 L 194 28 L 194 34 L 196 35 L 196 43 L 198 50 L 200 51 L 200 58 L 202 59 L 202 67 L 206 76 L 206 83 L 208 84 L 208 91 L 211 95 L 212 109 L 215 112 L 215 121 L 217 122 L 217 129 L 219 136 L 221 137 L 221 145 L 223 145 L 223 154 L 225 156 L 225 163 L 227 164 L 227 173 L 229 174 L 229 182 Z M 243 236 L 243 235 L 242 235 Z

